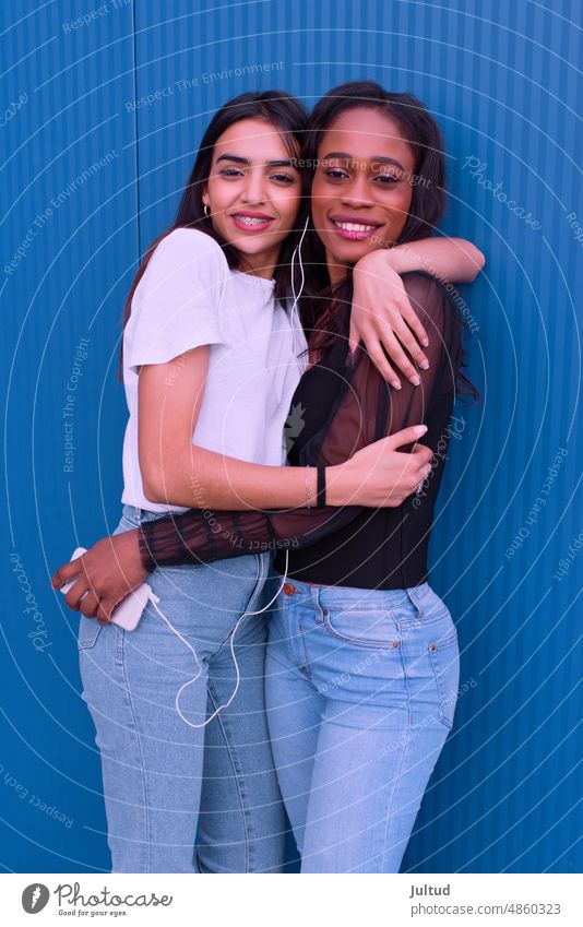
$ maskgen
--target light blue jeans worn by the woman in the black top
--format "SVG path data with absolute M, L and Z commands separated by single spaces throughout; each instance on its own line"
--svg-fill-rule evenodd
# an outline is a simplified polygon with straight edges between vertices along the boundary
M 427 583 L 384 592 L 293 580 L 269 634 L 267 721 L 301 871 L 397 872 L 453 723 L 448 608 Z

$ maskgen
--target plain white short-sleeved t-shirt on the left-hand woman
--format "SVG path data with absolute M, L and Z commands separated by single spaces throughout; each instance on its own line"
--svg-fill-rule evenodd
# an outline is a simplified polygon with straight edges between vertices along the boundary
M 284 424 L 300 378 L 304 333 L 273 296 L 275 283 L 230 271 L 210 236 L 178 228 L 163 238 L 132 299 L 123 333 L 130 419 L 122 501 L 153 512 L 185 508 L 146 499 L 138 456 L 138 377 L 210 345 L 209 375 L 192 443 L 242 461 L 285 463 Z M 179 376 L 179 372 L 177 373 Z

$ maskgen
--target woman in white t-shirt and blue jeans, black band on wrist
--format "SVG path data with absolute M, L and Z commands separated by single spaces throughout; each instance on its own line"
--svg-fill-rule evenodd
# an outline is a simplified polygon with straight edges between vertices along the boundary
M 298 162 L 306 122 L 301 105 L 281 92 L 223 107 L 172 230 L 140 269 L 123 336 L 130 419 L 118 532 L 192 507 L 209 511 L 212 533 L 210 509 L 317 503 L 316 470 L 282 466 L 306 346 L 284 308 L 293 230 L 307 207 Z M 423 336 L 418 323 L 416 331 Z M 397 504 L 430 470 L 427 449 L 396 450 L 418 436 L 408 428 L 379 442 L 382 454 L 373 445 L 328 468 L 328 504 Z M 83 698 L 102 752 L 114 871 L 282 869 L 265 627 L 253 615 L 270 558 L 155 570 L 148 582 L 159 608 L 150 603 L 131 633 L 81 620 Z M 91 562 L 86 555 L 86 573 L 67 595 L 86 616 L 100 597 Z M 61 568 L 53 584 L 75 569 Z

